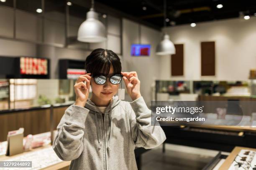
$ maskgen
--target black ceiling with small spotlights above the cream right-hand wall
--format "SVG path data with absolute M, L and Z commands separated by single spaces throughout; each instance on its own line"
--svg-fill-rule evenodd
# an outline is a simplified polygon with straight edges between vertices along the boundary
M 164 26 L 164 0 L 96 0 L 153 25 Z M 223 8 L 216 6 L 223 4 Z M 166 0 L 167 26 L 238 18 L 256 13 L 256 0 Z M 146 7 L 146 10 L 143 10 Z M 174 22 L 172 22 L 174 21 Z

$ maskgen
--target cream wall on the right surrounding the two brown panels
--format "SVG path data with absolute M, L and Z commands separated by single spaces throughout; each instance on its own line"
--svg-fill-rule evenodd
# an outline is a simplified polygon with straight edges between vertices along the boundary
M 256 68 L 256 17 L 168 27 L 174 44 L 184 44 L 184 76 L 171 77 L 171 57 L 161 57 L 161 79 L 244 80 Z M 200 42 L 215 41 L 215 76 L 201 76 Z

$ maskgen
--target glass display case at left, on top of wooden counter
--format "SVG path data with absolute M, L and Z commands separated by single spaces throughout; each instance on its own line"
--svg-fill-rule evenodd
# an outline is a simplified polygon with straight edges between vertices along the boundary
M 38 107 L 56 103 L 74 103 L 75 80 L 2 79 L 0 110 Z

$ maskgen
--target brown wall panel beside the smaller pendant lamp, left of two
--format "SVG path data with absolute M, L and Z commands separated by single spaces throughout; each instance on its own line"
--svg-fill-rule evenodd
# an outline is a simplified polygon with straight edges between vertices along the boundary
M 175 44 L 176 54 L 172 55 L 171 59 L 171 75 L 183 75 L 183 44 Z

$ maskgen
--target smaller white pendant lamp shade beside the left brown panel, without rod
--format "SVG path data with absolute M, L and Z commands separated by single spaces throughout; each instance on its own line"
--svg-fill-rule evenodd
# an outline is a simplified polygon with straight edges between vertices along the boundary
M 156 55 L 172 55 L 175 53 L 174 44 L 169 39 L 169 35 L 165 34 L 164 40 L 162 40 L 156 47 Z

